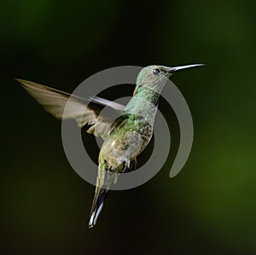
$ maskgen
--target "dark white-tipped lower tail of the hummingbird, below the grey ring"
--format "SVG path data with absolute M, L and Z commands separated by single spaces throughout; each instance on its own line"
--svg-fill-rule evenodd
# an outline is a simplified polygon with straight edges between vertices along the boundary
M 96 188 L 96 193 L 90 210 L 89 229 L 93 228 L 96 225 L 97 218 L 102 212 L 104 200 L 107 193 L 108 190 L 105 188 Z

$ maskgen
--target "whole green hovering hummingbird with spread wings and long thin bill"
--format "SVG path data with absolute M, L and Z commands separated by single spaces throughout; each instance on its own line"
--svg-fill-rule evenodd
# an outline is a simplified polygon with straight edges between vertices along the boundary
M 205 65 L 144 67 L 137 76 L 133 96 L 125 106 L 99 96 L 86 100 L 42 84 L 16 78 L 56 119 L 75 119 L 79 128 L 89 125 L 87 132 L 101 136 L 104 141 L 98 157 L 95 195 L 89 217 L 90 229 L 96 225 L 106 194 L 111 185 L 118 181 L 119 174 L 136 170 L 137 156 L 143 152 L 153 136 L 154 117 L 166 81 L 174 72 L 203 66 Z M 64 111 L 67 101 L 69 107 Z M 107 115 L 101 115 L 103 108 L 108 108 Z M 115 118 L 117 114 L 119 117 Z

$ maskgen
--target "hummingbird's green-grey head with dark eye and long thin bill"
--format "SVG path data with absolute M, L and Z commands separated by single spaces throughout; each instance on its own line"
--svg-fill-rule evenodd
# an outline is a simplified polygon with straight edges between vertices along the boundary
M 173 72 L 204 66 L 204 64 L 193 64 L 181 67 L 165 67 L 158 65 L 144 67 L 137 76 L 137 87 L 147 87 L 148 89 L 160 93 L 167 79 L 172 76 Z

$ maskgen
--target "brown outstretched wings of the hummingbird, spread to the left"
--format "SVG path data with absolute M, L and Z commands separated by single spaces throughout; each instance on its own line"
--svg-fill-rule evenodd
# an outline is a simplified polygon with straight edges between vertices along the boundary
M 91 125 L 87 132 L 95 136 L 102 136 L 103 139 L 108 136 L 115 116 L 120 115 L 125 107 L 98 96 L 90 99 L 89 103 L 79 96 L 73 96 L 42 84 L 18 78 L 16 80 L 56 119 L 75 119 L 80 128 L 86 124 Z M 67 101 L 69 101 L 68 107 L 65 109 Z M 102 108 L 108 109 L 106 111 L 108 116 L 100 115 Z

